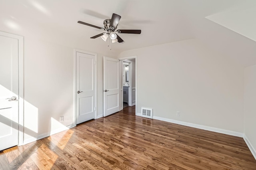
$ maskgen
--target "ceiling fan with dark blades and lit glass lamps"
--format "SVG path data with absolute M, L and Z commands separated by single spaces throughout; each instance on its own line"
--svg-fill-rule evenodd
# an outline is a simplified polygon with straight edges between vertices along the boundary
M 94 26 L 92 24 L 88 24 L 88 23 L 85 23 L 82 21 L 78 21 L 78 23 L 106 31 L 104 33 L 101 33 L 101 34 L 91 37 L 91 38 L 101 37 L 105 42 L 108 39 L 108 36 L 110 36 L 112 43 L 115 43 L 115 42 L 123 43 L 124 40 L 122 40 L 122 38 L 120 38 L 116 33 L 120 33 L 120 34 L 140 34 L 141 33 L 141 30 L 116 30 L 120 18 L 121 18 L 120 15 L 112 14 L 111 19 L 104 20 L 104 22 L 103 22 L 104 28 Z

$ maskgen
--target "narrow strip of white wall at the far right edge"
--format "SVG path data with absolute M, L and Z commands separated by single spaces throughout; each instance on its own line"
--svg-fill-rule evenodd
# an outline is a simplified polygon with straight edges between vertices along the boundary
M 244 69 L 244 134 L 256 158 L 256 65 Z

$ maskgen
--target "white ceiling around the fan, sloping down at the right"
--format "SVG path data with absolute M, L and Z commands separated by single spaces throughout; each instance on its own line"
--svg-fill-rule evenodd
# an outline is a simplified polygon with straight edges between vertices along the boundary
M 107 55 L 197 38 L 246 67 L 256 64 L 256 42 L 205 17 L 256 6 L 255 0 L 0 0 L 0 31 L 36 38 Z M 122 18 L 118 29 L 140 29 L 141 34 L 119 34 L 124 43 L 110 51 L 101 30 L 112 13 Z M 238 49 L 241 47 L 243 49 Z M 243 55 L 243 56 L 242 56 Z

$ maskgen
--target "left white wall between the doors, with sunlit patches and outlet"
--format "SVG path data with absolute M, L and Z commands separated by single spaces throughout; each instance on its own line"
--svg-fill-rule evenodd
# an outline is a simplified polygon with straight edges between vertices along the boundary
M 97 57 L 97 113 L 102 115 L 103 55 Z M 24 37 L 24 100 L 25 143 L 74 124 L 74 47 Z

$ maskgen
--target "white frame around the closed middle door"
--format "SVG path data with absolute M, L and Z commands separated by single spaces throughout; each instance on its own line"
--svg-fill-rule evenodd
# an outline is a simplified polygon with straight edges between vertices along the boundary
M 85 54 L 89 54 L 89 55 L 94 55 L 95 56 L 95 115 L 94 115 L 94 119 L 97 118 L 97 54 L 96 53 L 92 53 L 92 52 L 88 52 L 88 51 L 84 51 L 84 50 L 80 50 L 80 49 L 74 49 L 74 126 L 76 126 L 76 114 L 77 114 L 77 110 L 76 110 L 76 52 L 79 53 L 85 53 Z

